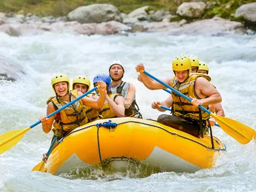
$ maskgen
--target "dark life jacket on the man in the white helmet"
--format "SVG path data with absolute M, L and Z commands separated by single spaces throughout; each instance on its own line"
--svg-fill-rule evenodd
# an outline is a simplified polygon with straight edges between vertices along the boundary
M 117 87 L 117 94 L 122 94 L 123 86 L 125 86 L 126 82 L 121 82 L 120 86 Z M 141 113 L 139 113 L 139 106 L 137 105 L 136 100 L 133 100 L 129 108 L 125 108 L 125 116 L 126 117 L 134 117 L 142 119 Z

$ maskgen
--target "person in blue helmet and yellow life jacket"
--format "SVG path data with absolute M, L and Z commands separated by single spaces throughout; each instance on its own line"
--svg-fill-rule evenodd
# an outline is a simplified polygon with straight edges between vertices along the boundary
M 105 82 L 107 86 L 106 100 L 103 107 L 99 109 L 100 115 L 102 115 L 103 119 L 125 117 L 125 99 L 121 94 L 112 94 L 110 76 L 105 73 L 96 75 L 93 80 L 94 87 L 98 85 L 98 81 Z M 101 94 L 98 90 L 96 90 L 96 93 Z M 94 98 L 98 98 L 98 96 L 94 96 Z

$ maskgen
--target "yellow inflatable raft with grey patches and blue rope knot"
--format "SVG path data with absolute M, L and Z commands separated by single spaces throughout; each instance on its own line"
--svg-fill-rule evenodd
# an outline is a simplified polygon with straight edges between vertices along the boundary
M 196 172 L 212 168 L 224 150 L 216 137 L 193 137 L 155 121 L 102 119 L 64 137 L 49 154 L 44 172 L 60 174 L 97 164 L 126 167 L 127 162 L 151 164 L 164 171 Z

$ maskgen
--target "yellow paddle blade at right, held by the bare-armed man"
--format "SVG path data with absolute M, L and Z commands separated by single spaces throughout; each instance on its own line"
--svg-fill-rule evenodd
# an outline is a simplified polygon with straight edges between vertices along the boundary
M 223 131 L 228 133 L 228 135 L 236 139 L 236 141 L 241 144 L 249 143 L 255 135 L 254 129 L 239 121 L 229 119 L 228 117 L 214 115 L 213 113 L 211 113 L 211 116 L 216 119 Z

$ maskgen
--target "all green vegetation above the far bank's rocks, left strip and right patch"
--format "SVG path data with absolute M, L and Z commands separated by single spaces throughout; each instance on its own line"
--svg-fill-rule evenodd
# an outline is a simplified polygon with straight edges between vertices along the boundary
M 134 9 L 149 5 L 147 11 L 162 9 L 174 14 L 181 3 L 189 1 L 191 0 L 0 0 L 0 12 L 18 13 L 23 10 L 24 14 L 33 13 L 40 17 L 48 15 L 58 17 L 67 15 L 79 6 L 108 3 L 115 5 L 123 13 L 130 13 Z M 205 0 L 205 2 L 207 2 L 207 9 L 203 14 L 203 19 L 220 15 L 222 18 L 241 22 L 243 18 L 234 18 L 234 12 L 241 5 L 255 2 L 255 0 Z M 181 19 L 181 17 L 177 17 L 172 20 Z

